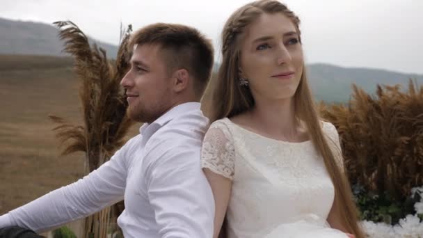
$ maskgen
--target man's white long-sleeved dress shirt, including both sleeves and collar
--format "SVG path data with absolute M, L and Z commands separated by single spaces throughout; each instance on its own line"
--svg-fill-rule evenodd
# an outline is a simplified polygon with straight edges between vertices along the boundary
M 200 167 L 207 127 L 199 103 L 175 106 L 83 179 L 0 216 L 0 228 L 42 232 L 123 199 L 125 237 L 212 237 L 213 193 Z

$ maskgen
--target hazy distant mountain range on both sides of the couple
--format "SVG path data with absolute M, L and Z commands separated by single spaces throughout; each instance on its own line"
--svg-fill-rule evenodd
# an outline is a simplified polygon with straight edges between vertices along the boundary
M 0 54 L 63 56 L 64 54 L 61 53 L 63 43 L 58 40 L 57 35 L 58 29 L 49 24 L 19 22 L 0 18 Z M 115 57 L 118 51 L 115 45 L 91 40 L 97 42 L 99 47 L 106 49 L 109 57 Z M 10 67 L 17 67 L 13 63 L 13 60 L 17 60 L 17 58 L 11 56 L 6 58 L 9 59 Z M 43 67 L 51 67 L 49 66 L 50 61 L 51 59 L 42 59 L 39 64 Z M 31 62 L 36 63 L 35 61 Z M 215 73 L 218 67 L 218 63 L 215 63 Z M 406 74 L 367 68 L 342 68 L 323 63 L 308 65 L 308 76 L 312 92 L 317 100 L 326 102 L 347 102 L 351 95 L 351 84 L 357 84 L 367 93 L 374 93 L 376 84 L 401 84 L 406 86 L 409 79 L 415 79 L 417 83 L 423 85 L 423 74 Z

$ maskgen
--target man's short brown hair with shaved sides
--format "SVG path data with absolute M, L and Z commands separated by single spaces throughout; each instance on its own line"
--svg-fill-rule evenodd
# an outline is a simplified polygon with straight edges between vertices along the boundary
M 195 95 L 201 97 L 209 82 L 214 63 L 210 40 L 197 29 L 181 24 L 157 23 L 145 26 L 131 35 L 129 47 L 159 45 L 169 72 L 184 68 L 194 78 Z

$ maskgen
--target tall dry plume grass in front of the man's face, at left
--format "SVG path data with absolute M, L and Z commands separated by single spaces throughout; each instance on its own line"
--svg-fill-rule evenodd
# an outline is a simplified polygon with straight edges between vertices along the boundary
M 50 116 L 58 124 L 54 128 L 56 137 L 64 145 L 62 154 L 85 153 L 85 174 L 102 166 L 104 162 L 126 141 L 134 122 L 126 114 L 127 100 L 120 86 L 120 80 L 129 69 L 127 44 L 132 29 L 120 32 L 121 43 L 116 61 L 109 61 L 106 51 L 91 46 L 86 35 L 72 22 L 55 22 L 59 28 L 59 38 L 65 42 L 64 51 L 74 58 L 74 72 L 81 81 L 79 95 L 83 111 L 83 123 Z M 115 210 L 121 206 L 115 205 Z M 120 212 L 114 212 L 119 215 Z M 116 214 L 117 213 L 117 214 Z M 115 223 L 117 216 L 111 207 L 88 216 L 85 224 L 85 237 L 103 238 L 108 232 L 108 224 Z

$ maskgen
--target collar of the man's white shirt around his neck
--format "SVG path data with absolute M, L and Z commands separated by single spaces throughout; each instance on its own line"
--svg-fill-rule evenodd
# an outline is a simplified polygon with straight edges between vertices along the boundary
M 167 122 L 181 115 L 182 113 L 186 113 L 188 111 L 193 111 L 193 110 L 200 110 L 200 109 L 201 109 L 200 102 L 186 102 L 183 104 L 179 104 L 177 106 L 173 106 L 173 108 L 171 108 L 169 111 L 167 111 L 166 113 L 161 115 L 159 118 L 154 120 L 154 122 L 152 122 L 151 124 L 144 123 L 140 128 L 140 133 L 144 135 L 145 132 L 147 132 L 147 130 L 150 130 L 149 128 L 151 127 L 159 129 L 160 127 L 163 127 L 163 125 L 166 125 Z

